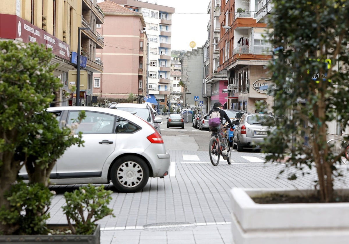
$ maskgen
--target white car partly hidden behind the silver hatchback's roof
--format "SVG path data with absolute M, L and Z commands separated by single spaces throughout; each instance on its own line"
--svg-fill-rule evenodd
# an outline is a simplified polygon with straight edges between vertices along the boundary
M 147 121 L 149 124 L 161 133 L 160 123 L 162 122 L 162 117 L 155 117 L 154 110 L 151 106 L 146 103 L 143 104 L 133 104 L 133 103 L 117 103 L 111 102 L 108 108 L 121 109 L 141 117 L 143 120 Z

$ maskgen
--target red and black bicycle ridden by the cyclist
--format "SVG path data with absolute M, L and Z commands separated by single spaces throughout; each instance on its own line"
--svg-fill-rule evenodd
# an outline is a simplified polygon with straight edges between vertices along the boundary
M 224 129 L 227 129 L 228 127 L 225 126 Z M 209 155 L 210 155 L 210 160 L 213 166 L 217 166 L 220 160 L 220 156 L 222 155 L 222 146 L 221 146 L 221 141 L 218 138 L 217 131 L 212 131 L 212 134 L 214 135 L 210 139 L 209 143 Z M 229 147 L 229 142 L 228 139 L 225 137 L 224 133 L 224 141 L 226 145 L 226 150 L 227 150 L 227 162 L 230 165 L 230 147 Z

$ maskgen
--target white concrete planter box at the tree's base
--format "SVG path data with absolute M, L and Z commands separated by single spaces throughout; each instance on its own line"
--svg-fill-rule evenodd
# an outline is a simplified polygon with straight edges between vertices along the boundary
M 349 194 L 349 189 L 340 191 Z M 233 188 L 233 244 L 349 243 L 349 203 L 256 204 L 250 197 L 268 192 L 307 195 L 314 191 Z

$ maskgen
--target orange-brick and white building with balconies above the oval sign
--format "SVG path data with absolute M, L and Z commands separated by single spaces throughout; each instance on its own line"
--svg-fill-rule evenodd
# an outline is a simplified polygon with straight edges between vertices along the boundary
M 268 84 L 270 78 L 266 66 L 272 58 L 272 47 L 263 38 L 266 23 L 256 19 L 258 2 L 215 1 L 221 13 L 215 22 L 215 28 L 220 31 L 217 72 L 227 72 L 227 87 L 224 84 L 225 92 L 228 92 L 226 107 L 253 113 L 258 112 L 255 110 L 258 101 L 273 104 L 267 91 L 260 89 Z

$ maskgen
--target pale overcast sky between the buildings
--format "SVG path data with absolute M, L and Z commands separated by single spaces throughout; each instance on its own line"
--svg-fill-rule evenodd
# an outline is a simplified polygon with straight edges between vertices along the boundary
M 103 0 L 97 0 L 103 2 Z M 208 39 L 207 24 L 210 15 L 207 7 L 210 0 L 142 0 L 174 8 L 172 14 L 171 49 L 191 50 L 189 46 L 194 41 L 196 46 L 202 47 Z

